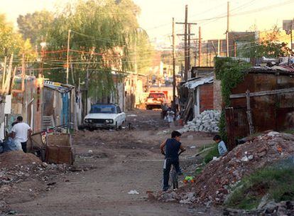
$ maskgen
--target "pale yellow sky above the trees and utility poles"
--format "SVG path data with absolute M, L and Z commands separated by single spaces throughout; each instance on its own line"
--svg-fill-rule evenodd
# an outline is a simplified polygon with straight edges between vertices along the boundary
M 0 13 L 16 25 L 19 14 L 42 9 L 54 11 L 57 5 L 69 0 L 0 0 Z M 146 29 L 151 41 L 170 43 L 172 18 L 183 22 L 185 5 L 188 5 L 188 21 L 197 23 L 192 33 L 198 36 L 201 26 L 202 38 L 222 39 L 227 30 L 227 0 L 133 0 L 141 7 L 138 21 Z M 230 31 L 270 30 L 283 26 L 284 19 L 292 19 L 294 0 L 231 0 Z M 183 25 L 175 25 L 176 33 L 183 33 Z M 182 38 L 177 36 L 176 41 Z

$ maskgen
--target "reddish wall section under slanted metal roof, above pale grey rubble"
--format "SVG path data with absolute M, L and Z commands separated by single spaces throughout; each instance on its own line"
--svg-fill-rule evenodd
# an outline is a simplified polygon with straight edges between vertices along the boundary
M 200 113 L 207 109 L 214 109 L 213 83 L 200 86 Z

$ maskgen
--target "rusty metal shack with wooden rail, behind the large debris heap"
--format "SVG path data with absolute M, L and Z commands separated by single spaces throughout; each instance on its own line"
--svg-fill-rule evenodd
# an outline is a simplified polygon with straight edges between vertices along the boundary
M 234 129 L 235 137 L 270 129 L 283 131 L 293 126 L 292 70 L 281 67 L 251 68 L 246 72 L 244 81 L 232 90 L 230 96 L 233 122 L 227 120 L 227 124 Z

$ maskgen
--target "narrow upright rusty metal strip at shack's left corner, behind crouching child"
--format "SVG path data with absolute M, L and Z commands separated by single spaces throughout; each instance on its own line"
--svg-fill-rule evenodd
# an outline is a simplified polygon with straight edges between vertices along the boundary
M 228 150 L 232 151 L 236 147 L 235 131 L 234 131 L 234 108 L 225 108 L 226 121 L 227 121 L 227 134 L 228 134 Z

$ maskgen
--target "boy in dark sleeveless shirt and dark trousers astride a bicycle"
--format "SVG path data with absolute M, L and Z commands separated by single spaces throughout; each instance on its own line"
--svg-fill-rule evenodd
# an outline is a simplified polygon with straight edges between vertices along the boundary
M 177 173 L 180 173 L 179 154 L 186 151 L 186 149 L 180 143 L 180 136 L 182 136 L 180 132 L 173 131 L 171 134 L 171 139 L 165 140 L 160 145 L 161 153 L 165 155 L 165 161 L 163 166 L 163 191 L 168 190 L 168 180 L 170 178 L 171 166 L 173 165 L 175 171 Z

